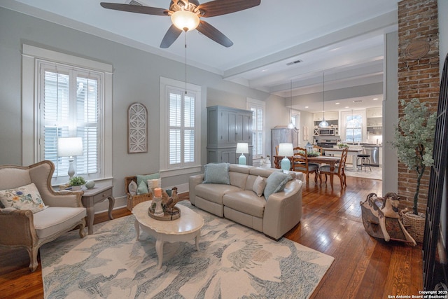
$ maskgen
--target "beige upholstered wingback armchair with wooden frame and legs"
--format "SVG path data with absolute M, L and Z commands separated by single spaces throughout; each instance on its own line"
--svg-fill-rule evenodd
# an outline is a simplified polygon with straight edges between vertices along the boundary
M 0 246 L 25 247 L 29 253 L 31 272 L 36 270 L 37 252 L 43 244 L 76 227 L 79 227 L 80 237 L 85 235 L 86 210 L 81 203 L 83 191 L 53 190 L 51 177 L 54 171 L 55 165 L 50 161 L 38 162 L 29 167 L 0 166 L 0 193 L 3 194 L 0 198 Z M 30 186 L 31 183 L 37 188 L 36 196 L 40 196 L 48 207 L 33 213 L 31 209 L 17 209 L 4 204 L 6 193 L 22 194 L 10 189 L 24 190 L 22 186 Z M 27 193 L 23 192 L 24 195 Z M 14 200 L 19 201 L 18 196 Z

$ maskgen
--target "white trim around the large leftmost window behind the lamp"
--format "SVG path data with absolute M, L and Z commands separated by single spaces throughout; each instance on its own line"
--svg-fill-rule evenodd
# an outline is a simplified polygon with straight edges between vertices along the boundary
M 112 74 L 111 64 L 88 60 L 73 55 L 37 48 L 24 44 L 22 48 L 22 165 L 39 162 L 38 130 L 40 125 L 38 109 L 38 91 L 36 60 L 48 60 L 60 64 L 69 64 L 84 69 L 94 69 L 104 73 L 104 106 L 101 111 L 104 118 L 102 125 L 102 179 L 112 178 Z

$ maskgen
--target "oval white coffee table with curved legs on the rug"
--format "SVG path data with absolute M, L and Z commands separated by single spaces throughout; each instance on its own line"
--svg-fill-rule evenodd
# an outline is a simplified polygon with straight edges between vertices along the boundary
M 196 239 L 196 249 L 199 251 L 199 239 L 204 219 L 200 214 L 192 211 L 182 204 L 176 204 L 181 210 L 181 217 L 173 221 L 160 221 L 148 215 L 148 208 L 152 201 L 141 202 L 132 209 L 135 216 L 135 230 L 137 231 L 137 241 L 140 237 L 140 228 L 149 235 L 155 237 L 155 252 L 158 256 L 158 269 L 162 267 L 163 244 L 165 242 L 187 242 Z

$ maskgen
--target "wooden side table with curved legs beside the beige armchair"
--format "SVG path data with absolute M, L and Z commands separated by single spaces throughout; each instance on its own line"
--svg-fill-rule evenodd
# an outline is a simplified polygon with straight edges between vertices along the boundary
M 109 200 L 109 219 L 113 219 L 112 217 L 112 209 L 115 204 L 115 198 L 112 196 L 112 188 L 113 185 L 109 184 L 101 184 L 98 183 L 92 189 L 85 189 L 84 195 L 81 198 L 84 207 L 87 209 L 87 225 L 89 235 L 93 233 L 93 218 L 94 214 L 94 205 L 98 202 L 104 202 L 104 200 Z

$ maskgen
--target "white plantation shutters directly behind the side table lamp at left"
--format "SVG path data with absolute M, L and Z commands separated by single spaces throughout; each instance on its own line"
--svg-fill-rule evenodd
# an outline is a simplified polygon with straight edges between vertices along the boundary
M 83 155 L 73 162 L 76 175 L 100 177 L 101 74 L 52 62 L 39 62 L 39 69 L 41 158 L 55 164 L 53 177 L 67 176 L 69 157 L 59 157 L 57 139 L 82 137 Z

